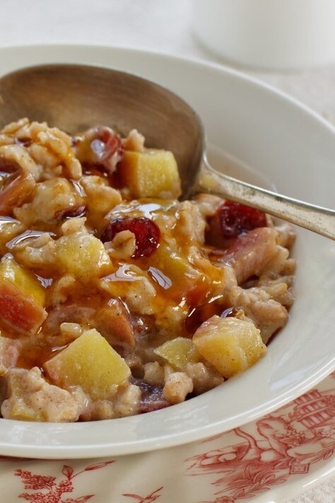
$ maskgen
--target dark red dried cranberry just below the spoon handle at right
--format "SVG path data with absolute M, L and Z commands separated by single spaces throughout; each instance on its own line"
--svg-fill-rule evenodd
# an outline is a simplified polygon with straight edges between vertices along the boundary
M 218 220 L 224 237 L 236 237 L 256 227 L 266 227 L 265 213 L 233 201 L 221 204 Z

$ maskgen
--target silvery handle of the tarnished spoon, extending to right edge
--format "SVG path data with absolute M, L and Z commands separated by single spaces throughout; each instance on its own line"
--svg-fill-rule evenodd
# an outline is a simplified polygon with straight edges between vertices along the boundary
M 211 192 L 237 201 L 237 203 L 248 204 L 270 215 L 317 232 L 324 237 L 335 239 L 334 210 L 304 203 L 298 199 L 291 199 L 218 173 L 208 165 L 206 158 L 204 163 L 195 191 Z

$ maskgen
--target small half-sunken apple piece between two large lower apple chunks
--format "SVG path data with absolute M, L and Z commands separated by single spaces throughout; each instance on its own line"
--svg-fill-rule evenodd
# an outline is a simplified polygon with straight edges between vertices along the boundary
M 187 363 L 197 363 L 201 360 L 194 343 L 184 337 L 177 337 L 158 346 L 155 354 L 163 357 L 178 370 L 184 370 Z

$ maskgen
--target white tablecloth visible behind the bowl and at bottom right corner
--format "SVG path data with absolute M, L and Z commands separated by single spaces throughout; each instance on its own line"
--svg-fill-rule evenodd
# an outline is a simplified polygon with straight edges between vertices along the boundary
M 84 42 L 154 49 L 222 63 L 192 32 L 192 0 L 1 0 L 0 46 Z M 244 69 L 245 70 L 245 69 Z M 250 71 L 335 124 L 335 65 L 290 72 Z M 290 503 L 334 503 L 334 479 Z

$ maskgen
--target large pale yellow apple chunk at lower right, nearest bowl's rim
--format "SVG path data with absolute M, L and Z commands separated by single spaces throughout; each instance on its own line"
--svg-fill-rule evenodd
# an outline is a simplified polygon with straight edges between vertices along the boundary
M 212 316 L 194 333 L 193 342 L 226 379 L 251 367 L 266 353 L 260 331 L 237 318 Z

